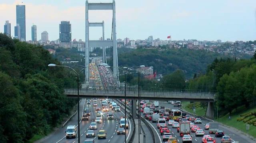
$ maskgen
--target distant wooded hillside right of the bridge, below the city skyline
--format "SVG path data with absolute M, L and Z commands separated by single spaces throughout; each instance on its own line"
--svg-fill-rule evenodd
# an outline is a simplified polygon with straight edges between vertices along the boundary
M 205 73 L 206 67 L 218 57 L 226 57 L 219 53 L 193 49 L 136 49 L 129 53 L 118 54 L 120 67 L 139 65 L 152 66 L 159 74 L 170 74 L 177 69 L 185 73 L 186 78 L 192 78 L 194 73 Z

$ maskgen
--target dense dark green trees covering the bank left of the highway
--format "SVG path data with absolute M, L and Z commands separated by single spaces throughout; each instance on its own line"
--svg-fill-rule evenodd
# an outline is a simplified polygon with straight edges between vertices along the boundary
M 0 33 L 0 142 L 22 143 L 45 135 L 70 114 L 75 101 L 62 88 L 73 80 L 41 46 Z

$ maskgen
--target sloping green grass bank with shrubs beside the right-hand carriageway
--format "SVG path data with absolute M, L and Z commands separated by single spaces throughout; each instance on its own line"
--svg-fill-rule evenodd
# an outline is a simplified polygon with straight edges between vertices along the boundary
M 244 123 L 243 121 L 236 121 L 237 118 L 240 118 L 241 114 L 244 114 L 247 112 L 256 112 L 256 108 L 251 108 L 249 110 L 244 110 L 242 112 L 237 112 L 237 113 L 234 112 L 232 113 L 231 119 L 228 119 L 229 114 L 226 114 L 225 116 L 218 118 L 217 121 L 225 125 L 235 127 L 245 133 L 252 135 L 253 137 L 256 137 L 256 127 L 254 125 L 251 124 L 250 130 L 246 131 L 246 125 L 248 123 Z

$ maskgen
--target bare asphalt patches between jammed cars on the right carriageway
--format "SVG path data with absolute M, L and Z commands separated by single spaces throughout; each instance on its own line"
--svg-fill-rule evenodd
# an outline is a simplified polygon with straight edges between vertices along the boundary
M 159 106 L 165 106 L 168 108 L 172 108 L 172 109 L 178 109 L 177 107 L 173 107 L 172 104 L 168 104 L 167 102 L 160 102 Z M 162 136 L 160 135 L 159 129 L 156 127 L 157 123 L 152 123 L 151 121 L 149 121 L 149 123 L 151 125 L 154 126 L 155 131 L 157 132 L 156 138 L 160 137 L 161 141 L 160 143 L 162 143 Z M 198 125 L 201 129 L 204 129 L 204 125 L 206 123 L 209 123 L 205 120 L 202 120 L 202 124 L 196 124 Z M 168 123 L 167 123 L 168 125 Z M 168 128 L 170 129 L 170 133 L 172 133 L 178 140 L 179 143 L 182 143 L 182 137 L 180 137 L 180 134 L 177 133 L 177 129 L 176 128 L 172 128 L 171 125 L 168 125 Z M 219 127 L 220 130 L 223 130 L 225 135 L 229 135 L 232 139 L 232 141 L 239 141 L 240 143 L 254 143 L 254 141 L 252 141 L 251 139 L 244 137 L 244 135 L 239 135 L 238 133 L 236 133 L 235 131 L 231 131 L 230 129 L 224 129 L 222 127 Z M 220 143 L 220 139 L 221 137 L 215 137 L 214 134 L 209 134 L 208 130 L 204 130 L 205 131 L 205 135 L 211 135 L 212 137 L 214 137 L 216 139 L 216 143 Z M 202 137 L 196 137 L 195 133 L 191 133 L 190 134 L 192 136 L 192 142 L 193 143 L 201 143 L 202 142 Z

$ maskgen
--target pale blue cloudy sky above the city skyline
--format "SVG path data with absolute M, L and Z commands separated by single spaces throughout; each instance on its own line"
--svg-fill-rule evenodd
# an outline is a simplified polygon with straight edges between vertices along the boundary
M 112 2 L 112 0 L 88 0 Z M 31 26 L 37 25 L 37 39 L 47 31 L 49 40 L 59 38 L 59 24 L 70 21 L 72 39 L 85 41 L 85 0 L 0 0 L 0 32 L 6 20 L 11 35 L 16 25 L 16 5 L 26 5 L 26 41 Z M 116 0 L 117 38 L 222 41 L 256 40 L 256 0 Z M 89 10 L 89 22 L 105 24 L 105 38 L 111 38 L 112 10 Z M 101 27 L 90 27 L 90 40 L 102 37 Z

